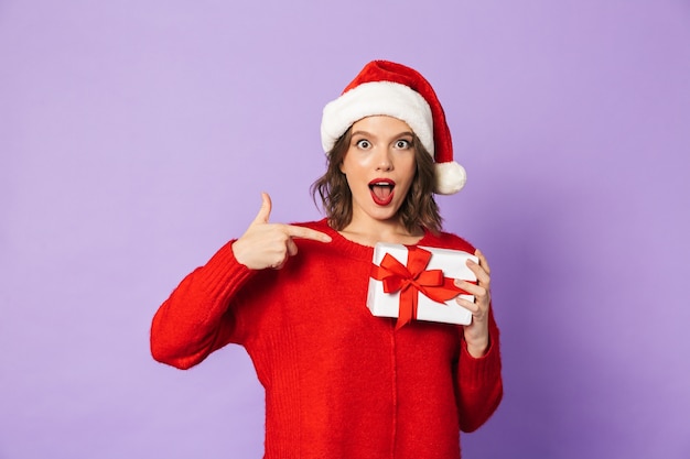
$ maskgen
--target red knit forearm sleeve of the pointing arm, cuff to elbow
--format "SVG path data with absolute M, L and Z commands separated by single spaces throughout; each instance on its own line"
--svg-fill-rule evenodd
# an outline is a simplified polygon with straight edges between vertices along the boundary
M 159 362 L 185 370 L 236 339 L 228 307 L 256 271 L 235 259 L 233 242 L 187 274 L 155 313 L 151 354 Z

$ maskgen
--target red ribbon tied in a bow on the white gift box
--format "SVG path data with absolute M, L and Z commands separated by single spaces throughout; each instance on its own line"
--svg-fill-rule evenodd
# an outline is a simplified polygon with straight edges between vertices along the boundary
M 396 329 L 417 319 L 419 293 L 434 302 L 444 304 L 460 294 L 468 294 L 454 284 L 451 277 L 444 277 L 442 270 L 427 270 L 431 252 L 417 245 L 408 249 L 407 266 L 390 253 L 386 253 L 380 265 L 371 264 L 370 276 L 384 284 L 384 292 L 400 292 L 400 306 Z M 444 304 L 445 306 L 445 304 Z

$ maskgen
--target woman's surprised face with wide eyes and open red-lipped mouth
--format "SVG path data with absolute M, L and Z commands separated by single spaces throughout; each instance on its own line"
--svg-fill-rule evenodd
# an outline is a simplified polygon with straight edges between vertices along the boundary
M 353 195 L 353 221 L 389 221 L 412 185 L 417 164 L 412 130 L 397 118 L 364 118 L 352 127 L 341 165 Z

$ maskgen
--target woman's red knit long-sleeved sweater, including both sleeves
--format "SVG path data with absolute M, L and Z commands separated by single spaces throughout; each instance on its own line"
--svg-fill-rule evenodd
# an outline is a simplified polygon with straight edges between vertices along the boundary
M 295 240 L 281 270 L 238 263 L 231 242 L 188 274 L 151 329 L 153 357 L 187 369 L 244 346 L 266 389 L 267 459 L 453 459 L 503 395 L 498 329 L 472 358 L 460 326 L 395 319 L 366 306 L 373 248 L 325 220 L 302 223 L 331 243 Z M 420 245 L 474 252 L 450 233 Z

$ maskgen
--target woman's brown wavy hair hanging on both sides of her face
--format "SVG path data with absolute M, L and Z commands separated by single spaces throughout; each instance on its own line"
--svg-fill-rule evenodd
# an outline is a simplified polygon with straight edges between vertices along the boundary
M 441 230 L 443 219 L 433 198 L 435 183 L 433 159 L 417 135 L 413 134 L 412 136 L 417 172 L 405 203 L 398 209 L 398 216 L 409 232 L 416 232 L 421 227 L 438 233 Z M 316 204 L 316 195 L 319 195 L 328 225 L 337 231 L 349 225 L 353 218 L 352 192 L 345 174 L 341 172 L 341 164 L 343 164 L 351 141 L 352 128 L 335 142 L 327 154 L 326 173 L 311 186 L 314 204 Z

